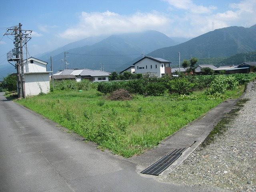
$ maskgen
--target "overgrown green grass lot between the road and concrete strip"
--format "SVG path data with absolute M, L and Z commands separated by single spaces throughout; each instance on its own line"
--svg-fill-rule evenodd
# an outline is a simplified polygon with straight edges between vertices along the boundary
M 243 88 L 228 97 L 242 94 Z M 223 99 L 170 99 L 169 96 L 134 96 L 130 101 L 110 101 L 95 89 L 54 91 L 17 101 L 43 116 L 94 141 L 100 148 L 130 157 L 173 134 L 214 108 Z M 201 96 L 201 97 L 200 97 Z

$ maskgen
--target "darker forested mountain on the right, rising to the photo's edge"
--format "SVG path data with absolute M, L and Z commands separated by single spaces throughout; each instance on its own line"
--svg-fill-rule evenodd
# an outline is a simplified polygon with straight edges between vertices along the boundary
M 250 28 L 227 27 L 200 35 L 182 44 L 160 48 L 148 56 L 163 57 L 172 64 L 178 64 L 178 52 L 181 61 L 190 56 L 198 58 L 228 57 L 238 53 L 256 50 L 256 25 Z

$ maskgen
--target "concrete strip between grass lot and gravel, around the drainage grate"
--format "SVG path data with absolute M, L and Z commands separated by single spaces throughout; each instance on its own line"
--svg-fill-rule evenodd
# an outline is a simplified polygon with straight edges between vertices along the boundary
M 252 82 L 247 85 L 246 92 L 252 87 Z M 129 161 L 137 164 L 137 172 L 140 174 L 142 170 L 168 154 L 173 149 L 184 148 L 182 156 L 178 158 L 172 165 L 170 165 L 160 175 L 162 177 L 168 176 L 176 167 L 178 167 L 208 136 L 211 130 L 218 124 L 218 122 L 228 113 L 238 100 L 244 97 L 244 94 L 238 99 L 227 99 L 215 108 L 208 111 L 206 114 L 200 116 L 196 120 L 190 122 L 166 139 L 154 149 L 146 151 L 144 154 L 128 158 Z M 146 176 L 144 174 L 141 174 Z M 146 177 L 148 177 L 147 175 Z M 156 177 L 151 176 L 150 177 Z

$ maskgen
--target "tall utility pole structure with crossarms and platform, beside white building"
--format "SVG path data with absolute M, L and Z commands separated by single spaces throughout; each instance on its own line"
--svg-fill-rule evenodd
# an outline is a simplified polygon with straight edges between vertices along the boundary
M 7 61 L 15 62 L 18 80 L 18 98 L 26 98 L 25 79 L 24 79 L 24 63 L 23 63 L 23 46 L 31 39 L 32 30 L 22 30 L 22 24 L 6 29 L 4 35 L 14 36 L 14 49 L 7 53 Z M 28 58 L 27 58 L 28 59 Z

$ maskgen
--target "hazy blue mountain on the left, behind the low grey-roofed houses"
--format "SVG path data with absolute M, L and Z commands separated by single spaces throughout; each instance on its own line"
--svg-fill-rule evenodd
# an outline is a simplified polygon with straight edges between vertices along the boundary
M 88 41 L 88 39 L 87 39 Z M 79 44 L 79 45 L 78 45 Z M 54 71 L 64 69 L 64 49 L 68 52 L 68 68 L 100 69 L 104 64 L 106 71 L 121 71 L 127 62 L 153 50 L 177 44 L 174 40 L 158 31 L 112 35 L 92 45 L 81 46 L 78 41 L 54 52 L 49 52 L 39 59 L 50 62 L 52 56 Z M 71 48 L 72 47 L 72 48 Z M 57 53 L 57 54 L 56 54 Z M 49 65 L 50 66 L 50 65 Z

